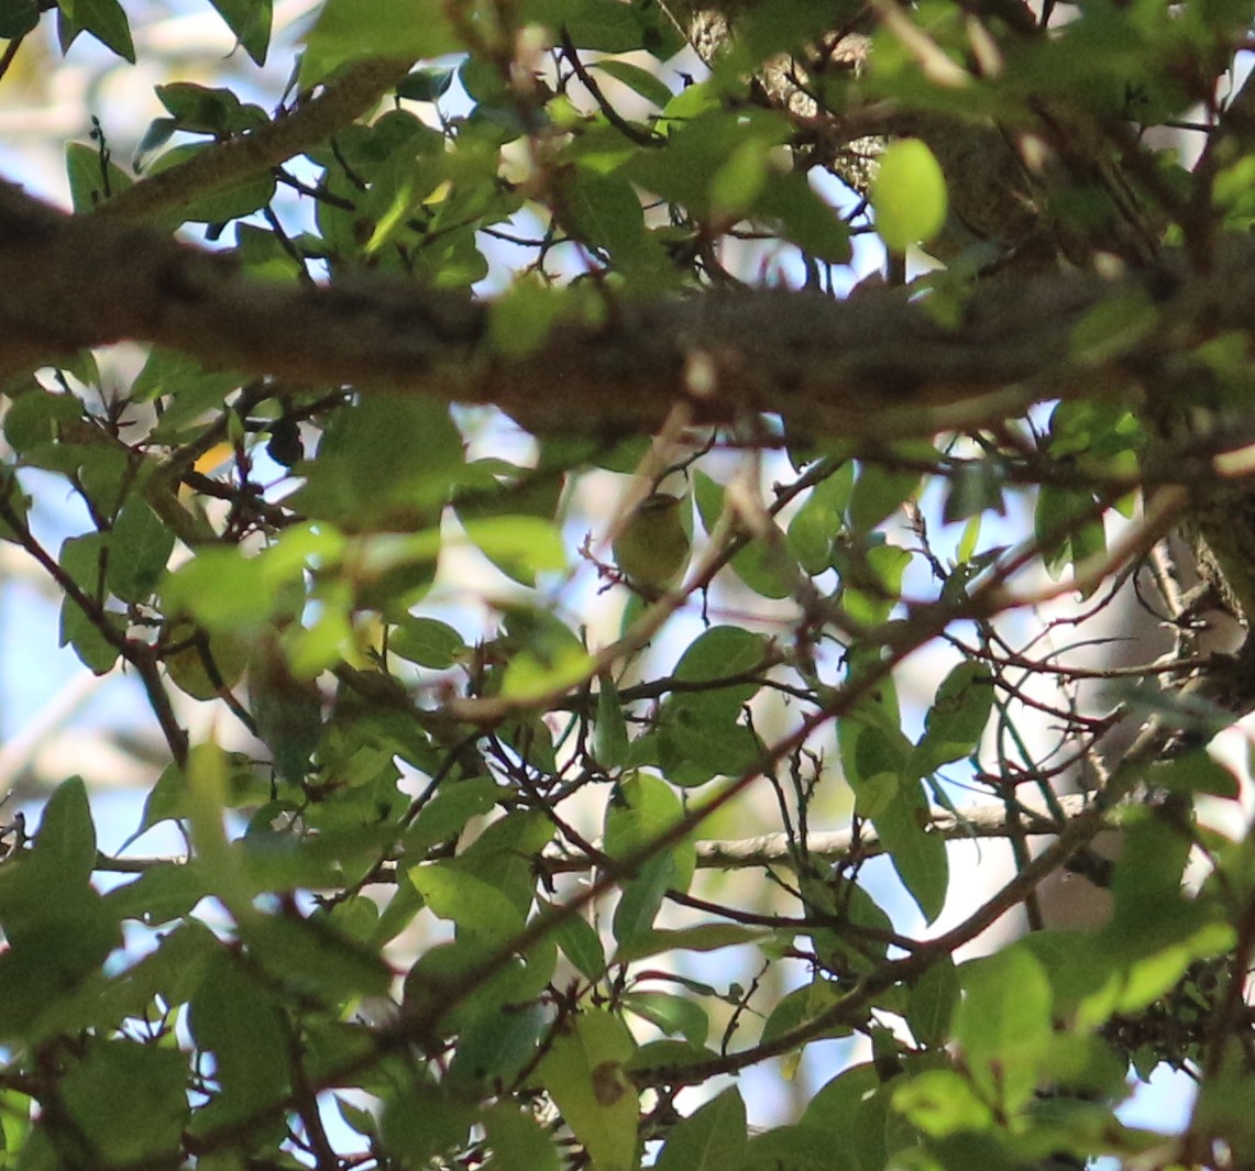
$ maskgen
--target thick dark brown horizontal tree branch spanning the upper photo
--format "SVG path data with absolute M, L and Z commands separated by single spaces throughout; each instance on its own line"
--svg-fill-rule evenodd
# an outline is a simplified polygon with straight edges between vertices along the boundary
M 315 385 L 493 403 L 532 428 L 655 429 L 776 412 L 816 433 L 931 433 L 1037 399 L 1128 390 L 1222 329 L 1255 326 L 1245 257 L 1195 279 L 1058 274 L 978 289 L 955 328 L 894 290 L 846 301 L 753 290 L 611 305 L 527 356 L 493 354 L 488 309 L 392 280 L 280 286 L 139 226 L 64 216 L 0 187 L 0 375 L 123 339 Z M 1074 353 L 1106 297 L 1158 300 L 1136 353 Z M 1130 348 L 1132 350 L 1132 348 Z

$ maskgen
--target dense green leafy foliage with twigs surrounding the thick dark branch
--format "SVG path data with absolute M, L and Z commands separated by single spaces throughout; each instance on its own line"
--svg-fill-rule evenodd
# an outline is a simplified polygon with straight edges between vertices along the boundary
M 212 8 L 266 64 L 269 0 Z M 1250 1165 L 1249 843 L 1196 806 L 1237 796 L 1204 748 L 1255 697 L 1200 650 L 1162 547 L 1171 653 L 1096 700 L 1107 676 L 1074 651 L 1176 518 L 1162 497 L 1138 513 L 1137 489 L 1215 484 L 1226 441 L 1207 441 L 1249 403 L 1240 330 L 1188 339 L 1167 389 L 1089 380 L 1122 363 L 1127 392 L 1172 330 L 1156 281 L 1249 231 L 1244 94 L 1217 94 L 1255 14 L 1052 11 L 325 0 L 247 98 L 198 72 L 158 85 L 133 171 L 110 127 L 68 146 L 89 227 L 139 207 L 247 277 L 361 304 L 501 290 L 474 360 L 502 383 L 572 323 L 595 338 L 747 282 L 845 295 L 872 235 L 899 285 L 915 266 L 886 297 L 941 328 L 991 281 L 1015 299 L 1047 270 L 1153 280 L 1081 319 L 1049 412 L 981 430 L 941 412 L 930 441 L 802 434 L 783 392 L 779 414 L 722 427 L 678 408 L 653 439 L 607 433 L 595 402 L 527 434 L 369 372 L 211 369 L 164 335 L 120 385 L 102 353 L 28 363 L 5 385 L 0 538 L 55 584 L 85 668 L 142 683 L 167 759 L 134 838 L 174 823 L 187 848 L 98 853 L 78 778 L 29 837 L 9 828 L 6 1162 Z M 4 68 L 49 24 L 63 53 L 85 34 L 134 63 L 132 16 L 0 0 Z M 387 100 L 319 120 L 380 59 Z M 250 161 L 302 119 L 280 162 Z M 1196 164 L 1150 144 L 1172 129 Z M 451 320 L 420 324 L 452 338 Z M 881 355 L 886 399 L 905 344 Z M 676 402 L 717 359 L 686 355 Z M 1200 413 L 1201 448 L 1177 427 Z M 659 488 L 692 561 L 640 596 L 606 551 Z M 1221 586 L 1235 562 L 1202 506 L 1224 527 L 1249 505 L 1226 491 L 1194 497 Z M 36 492 L 88 518 L 56 547 Z M 612 630 L 597 590 L 622 602 Z M 1049 609 L 1067 594 L 1088 609 Z M 1029 606 L 1047 621 L 1025 634 Z M 193 742 L 198 703 L 216 715 Z M 1119 723 L 1141 739 L 1103 761 Z M 850 830 L 833 843 L 821 820 Z M 1113 827 L 1114 862 L 1093 848 Z M 973 894 L 969 836 L 1010 842 L 1000 889 Z M 1045 922 L 1064 866 L 1109 887 L 1109 921 Z M 1013 909 L 1033 930 L 995 945 Z M 802 1087 L 803 1053 L 831 1077 L 789 1118 L 727 1081 L 783 1058 Z M 1197 1081 L 1183 1135 L 1116 1113 L 1163 1066 Z

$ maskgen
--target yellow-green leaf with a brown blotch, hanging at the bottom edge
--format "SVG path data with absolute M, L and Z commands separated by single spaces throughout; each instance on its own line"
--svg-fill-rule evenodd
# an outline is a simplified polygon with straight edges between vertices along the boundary
M 537 1081 L 597 1171 L 633 1171 L 636 1166 L 639 1106 L 624 1068 L 634 1051 L 622 1020 L 589 1009 L 565 1023 L 536 1067 Z

